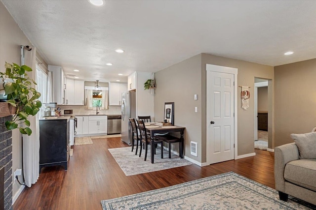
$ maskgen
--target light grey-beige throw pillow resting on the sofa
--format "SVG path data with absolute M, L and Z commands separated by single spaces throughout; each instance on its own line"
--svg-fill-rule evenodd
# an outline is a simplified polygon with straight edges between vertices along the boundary
M 300 159 L 316 159 L 316 132 L 304 134 L 291 134 L 294 140 Z

